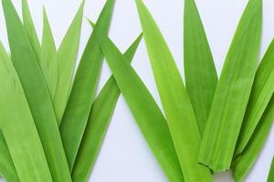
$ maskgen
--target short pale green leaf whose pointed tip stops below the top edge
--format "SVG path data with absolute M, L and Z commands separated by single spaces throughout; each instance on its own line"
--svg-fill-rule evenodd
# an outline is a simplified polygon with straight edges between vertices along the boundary
M 56 91 L 58 81 L 58 61 L 54 58 L 57 53 L 54 38 L 47 19 L 46 9 L 43 8 L 43 36 L 41 45 L 41 70 L 47 82 L 47 87 L 50 96 L 53 96 Z

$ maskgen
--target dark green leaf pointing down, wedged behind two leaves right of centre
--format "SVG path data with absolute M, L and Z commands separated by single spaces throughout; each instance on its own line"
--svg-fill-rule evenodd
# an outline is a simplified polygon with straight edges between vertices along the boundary
M 185 87 L 203 136 L 218 77 L 194 0 L 184 1 L 184 75 Z

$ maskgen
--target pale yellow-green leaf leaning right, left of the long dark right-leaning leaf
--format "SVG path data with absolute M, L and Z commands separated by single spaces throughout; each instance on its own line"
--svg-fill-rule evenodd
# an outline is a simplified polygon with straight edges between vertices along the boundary
M 53 60 L 53 62 L 58 62 L 58 82 L 53 96 L 58 125 L 61 123 L 68 103 L 68 96 L 79 50 L 84 5 L 85 1 L 83 0 L 77 15 L 75 15 L 73 22 L 68 28 L 67 34 L 58 48 L 58 53 L 55 57 L 56 60 Z

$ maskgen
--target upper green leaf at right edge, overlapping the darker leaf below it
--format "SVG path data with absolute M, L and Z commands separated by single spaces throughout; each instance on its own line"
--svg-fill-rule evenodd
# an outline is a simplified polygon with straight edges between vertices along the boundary
M 274 92 L 274 40 L 269 45 L 266 55 L 263 57 L 249 97 L 248 108 L 237 139 L 235 155 L 240 154 L 247 146 L 259 119 L 269 104 Z

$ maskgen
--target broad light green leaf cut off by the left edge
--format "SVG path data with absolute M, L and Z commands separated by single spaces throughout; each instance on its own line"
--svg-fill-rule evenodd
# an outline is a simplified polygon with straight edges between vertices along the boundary
M 4 9 L 8 6 L 4 1 Z M 10 6 L 11 7 L 11 6 Z M 6 13 L 6 12 L 5 12 Z M 23 26 L 22 26 L 23 28 Z M 16 70 L 0 44 L 0 128 L 21 182 L 52 181 L 37 128 Z M 4 136 L 1 134 L 2 138 Z M 2 146 L 2 145 L 1 145 Z M 2 147 L 4 147 L 3 145 Z M 7 154 L 6 154 L 7 155 Z M 6 158 L 8 160 L 8 158 Z M 9 163 L 10 164 L 10 163 Z M 12 167 L 8 165 L 6 169 Z M 15 177 L 13 170 L 8 171 Z M 18 180 L 17 180 L 18 181 Z

